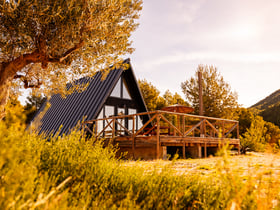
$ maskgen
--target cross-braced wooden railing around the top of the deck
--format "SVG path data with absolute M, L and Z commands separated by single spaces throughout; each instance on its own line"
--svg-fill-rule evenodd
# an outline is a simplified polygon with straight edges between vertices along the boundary
M 167 111 L 111 116 L 85 121 L 82 126 L 96 138 L 169 135 L 239 139 L 238 121 Z

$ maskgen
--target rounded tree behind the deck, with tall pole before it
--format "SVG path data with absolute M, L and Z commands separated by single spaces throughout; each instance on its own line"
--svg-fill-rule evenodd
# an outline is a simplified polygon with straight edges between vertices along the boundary
M 228 118 L 237 106 L 237 94 L 214 66 L 199 65 L 194 77 L 181 84 L 187 101 L 199 113 L 198 72 L 202 72 L 204 115 Z

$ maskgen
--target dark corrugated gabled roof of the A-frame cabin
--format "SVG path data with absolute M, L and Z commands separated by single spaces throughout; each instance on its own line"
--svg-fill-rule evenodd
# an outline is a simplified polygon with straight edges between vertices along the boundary
M 93 78 L 84 77 L 77 80 L 77 83 L 88 83 L 87 89 L 83 92 L 74 92 L 66 98 L 62 98 L 59 94 L 53 95 L 49 100 L 51 106 L 41 119 L 39 132 L 56 134 L 61 129 L 59 135 L 62 135 L 74 128 L 79 121 L 97 118 L 121 76 L 126 81 L 130 81 L 130 92 L 134 95 L 133 99 L 136 100 L 139 111 L 146 112 L 147 108 L 129 60 L 126 60 L 125 63 L 129 64 L 127 70 L 122 68 L 111 70 L 105 80 L 101 79 L 100 72 L 97 72 Z M 36 116 L 44 110 L 46 103 Z M 63 126 L 61 127 L 61 125 Z

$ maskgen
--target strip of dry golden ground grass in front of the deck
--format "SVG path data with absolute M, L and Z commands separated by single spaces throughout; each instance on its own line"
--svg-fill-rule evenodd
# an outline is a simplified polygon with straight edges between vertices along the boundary
M 229 156 L 227 167 L 238 173 L 240 176 L 269 175 L 279 177 L 280 175 L 280 155 L 272 153 L 255 153 L 247 155 Z M 155 168 L 161 170 L 164 166 L 171 166 L 179 175 L 190 174 L 211 174 L 215 173 L 217 166 L 224 164 L 223 157 L 208 157 L 203 159 L 178 159 L 176 161 L 129 161 L 123 163 L 126 166 L 144 168 L 152 171 Z

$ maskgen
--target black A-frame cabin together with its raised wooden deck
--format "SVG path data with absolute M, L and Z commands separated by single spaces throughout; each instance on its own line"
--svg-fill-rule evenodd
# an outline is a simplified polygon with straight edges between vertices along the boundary
M 52 96 L 50 108 L 45 112 L 43 106 L 37 114 L 39 131 L 62 135 L 80 121 L 84 131 L 118 145 L 120 153 L 135 159 L 166 158 L 177 151 L 183 158 L 207 157 L 226 144 L 239 153 L 238 121 L 175 111 L 148 112 L 130 61 L 125 63 L 128 69 L 114 69 L 105 80 L 101 73 L 77 80 L 88 83 L 83 92 L 66 98 Z

